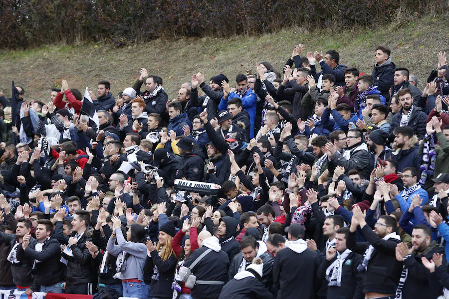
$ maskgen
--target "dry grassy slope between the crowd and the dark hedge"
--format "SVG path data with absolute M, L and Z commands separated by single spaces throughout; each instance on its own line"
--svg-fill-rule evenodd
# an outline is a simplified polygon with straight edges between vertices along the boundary
M 182 38 L 155 40 L 122 49 L 102 44 L 42 46 L 26 51 L 0 52 L 0 88 L 10 96 L 10 82 L 25 88 L 26 99 L 47 100 L 49 88 L 67 79 L 70 87 L 96 91 L 100 79 L 108 79 L 117 94 L 138 77 L 139 68 L 160 75 L 170 98 L 176 98 L 181 83 L 195 72 L 206 78 L 223 72 L 233 81 L 237 73 L 254 70 L 257 61 L 270 61 L 280 70 L 294 44 L 305 51 L 337 49 L 340 62 L 371 73 L 374 48 L 387 45 L 397 66 L 408 67 L 420 79 L 419 87 L 437 64 L 436 52 L 448 51 L 448 18 L 426 18 L 391 24 L 376 30 L 354 29 L 344 33 L 307 32 L 289 28 L 273 34 L 230 39 Z M 449 52 L 449 51 L 448 51 Z M 301 56 L 305 55 L 305 52 Z

